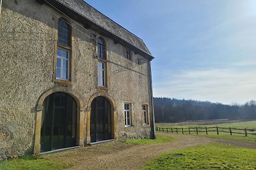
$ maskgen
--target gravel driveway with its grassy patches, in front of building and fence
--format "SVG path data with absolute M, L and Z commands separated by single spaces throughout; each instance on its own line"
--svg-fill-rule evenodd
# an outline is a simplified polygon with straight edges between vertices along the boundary
M 250 166 L 255 166 L 255 162 L 252 162 L 251 157 L 256 157 L 256 145 L 252 143 L 166 132 L 157 132 L 156 134 L 157 139 L 155 140 L 136 139 L 103 143 L 48 155 L 27 156 L 20 159 L 2 161 L 0 162 L 0 169 L 161 168 L 160 165 L 157 168 L 152 163 L 150 165 L 148 163 L 150 161 L 157 161 L 157 164 L 161 162 L 164 167 L 168 167 L 170 164 L 173 167 L 179 167 L 180 164 L 184 163 L 184 169 L 195 169 L 194 167 L 196 166 L 201 168 L 209 167 L 209 169 L 211 167 L 212 169 L 213 167 L 216 167 L 216 169 L 221 169 L 222 167 L 232 169 L 235 166 L 237 169 L 253 169 Z M 242 148 L 234 147 L 233 145 Z M 176 155 L 172 157 L 168 153 Z M 163 156 L 162 154 L 167 155 Z M 182 154 L 182 157 L 179 157 L 179 154 Z M 238 156 L 239 160 L 237 160 Z M 220 162 L 220 159 L 222 162 Z M 145 164 L 147 164 L 146 167 Z

